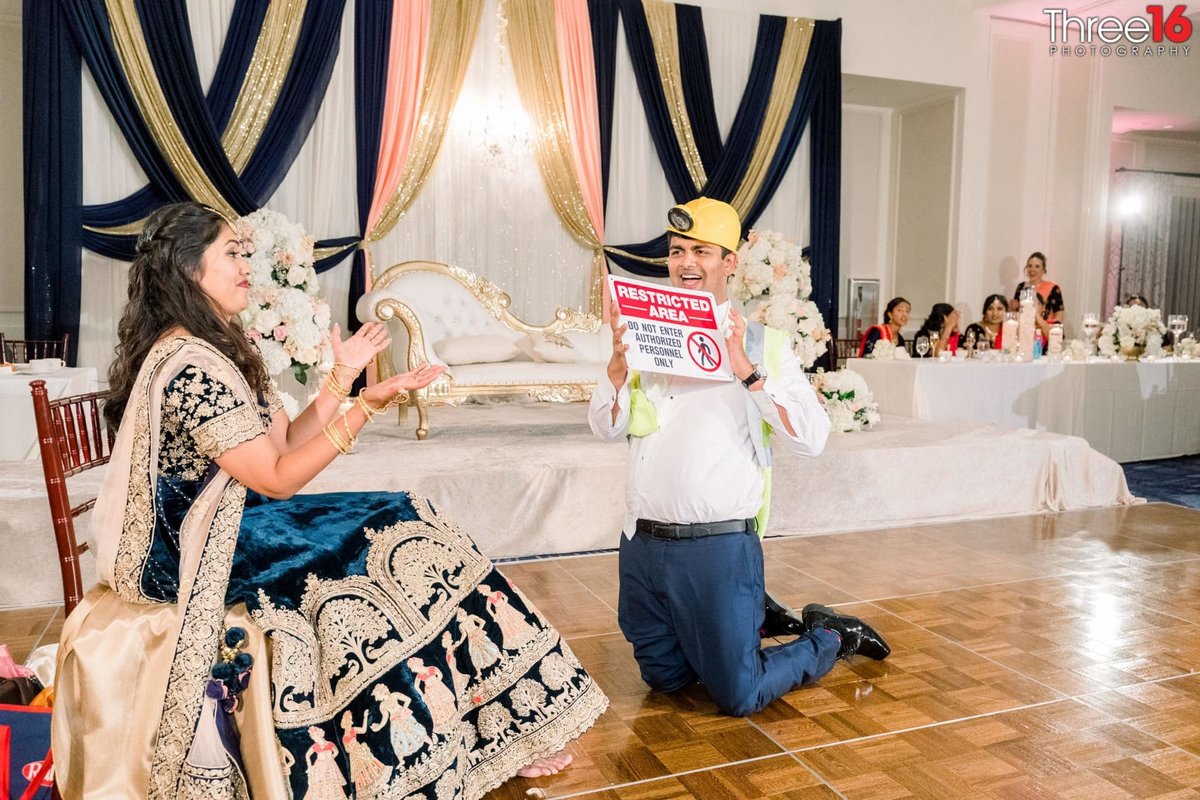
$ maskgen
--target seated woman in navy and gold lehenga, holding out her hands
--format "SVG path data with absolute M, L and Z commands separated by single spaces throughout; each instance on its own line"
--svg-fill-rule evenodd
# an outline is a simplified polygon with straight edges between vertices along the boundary
M 389 339 L 378 325 L 344 342 L 335 329 L 334 369 L 289 422 L 238 321 L 248 263 L 233 228 L 175 204 L 150 216 L 137 251 L 106 408 L 119 429 L 90 531 L 101 584 L 59 654 L 56 780 L 68 800 L 304 798 L 308 771 L 284 765 L 310 764 L 310 729 L 331 745 L 343 714 L 378 721 L 376 698 L 418 697 L 410 658 L 445 663 L 446 640 L 499 637 L 461 620 L 482 624 L 476 587 L 506 582 L 421 498 L 295 494 L 438 368 L 377 383 L 343 410 Z M 468 675 L 437 730 L 413 700 L 415 751 L 367 724 L 359 741 L 388 777 L 361 790 L 343 754 L 332 764 L 349 796 L 474 799 L 570 762 L 564 747 L 607 699 L 557 631 L 517 594 L 509 603 L 536 637 Z M 557 687 L 564 660 L 565 691 L 521 714 L 511 691 Z

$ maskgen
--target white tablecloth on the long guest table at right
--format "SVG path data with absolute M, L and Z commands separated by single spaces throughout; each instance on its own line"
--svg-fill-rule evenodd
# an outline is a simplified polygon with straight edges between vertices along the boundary
M 1117 462 L 1200 452 L 1200 362 L 851 359 L 880 410 L 1082 437 Z

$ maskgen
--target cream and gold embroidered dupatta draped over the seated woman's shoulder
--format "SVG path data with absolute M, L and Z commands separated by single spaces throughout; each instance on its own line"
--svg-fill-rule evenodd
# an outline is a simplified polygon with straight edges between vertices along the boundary
M 251 682 L 236 714 L 250 790 L 287 798 L 271 718 L 270 657 L 244 604 L 226 609 L 229 570 L 246 489 L 220 470 L 180 529 L 178 603 L 142 593 L 155 525 L 163 391 L 185 366 L 199 367 L 242 401 L 198 428 L 220 449 L 265 433 L 258 401 L 234 365 L 192 337 L 151 349 L 130 396 L 89 539 L 101 584 L 64 625 L 53 745 L 64 798 L 246 796 L 241 777 L 212 753 L 199 726 L 204 688 L 222 632 L 248 637 Z

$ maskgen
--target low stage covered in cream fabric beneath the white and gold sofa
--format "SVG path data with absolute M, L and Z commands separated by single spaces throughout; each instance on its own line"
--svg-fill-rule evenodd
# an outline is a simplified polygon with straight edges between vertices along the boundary
M 374 423 L 305 491 L 424 494 L 492 558 L 617 546 L 626 447 L 592 437 L 586 405 L 436 408 L 428 440 L 413 427 Z M 73 480 L 94 488 L 95 471 Z M 775 449 L 769 534 L 1132 501 L 1121 467 L 1082 439 L 884 416 L 877 431 L 834 434 L 816 459 Z M 0 463 L 0 607 L 59 602 L 41 464 Z

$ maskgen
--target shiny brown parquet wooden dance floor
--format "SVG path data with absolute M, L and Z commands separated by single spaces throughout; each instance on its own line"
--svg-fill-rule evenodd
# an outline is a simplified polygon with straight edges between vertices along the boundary
M 612 699 L 563 774 L 490 798 L 1193 798 L 1200 511 L 1151 504 L 768 540 L 785 600 L 892 644 L 751 717 L 650 694 L 617 628 L 612 554 L 504 566 Z M 18 661 L 55 607 L 0 612 Z

